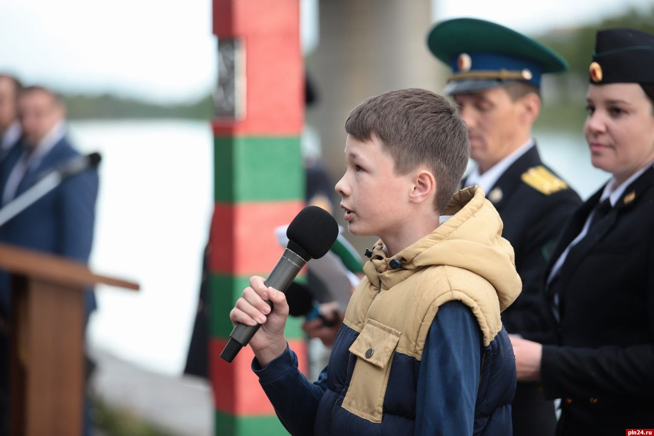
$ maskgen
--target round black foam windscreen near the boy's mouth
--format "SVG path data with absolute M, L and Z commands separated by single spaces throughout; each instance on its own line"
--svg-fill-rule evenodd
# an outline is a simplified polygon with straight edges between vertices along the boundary
M 286 229 L 288 240 L 300 245 L 313 259 L 327 254 L 338 236 L 336 219 L 318 206 L 307 206 Z

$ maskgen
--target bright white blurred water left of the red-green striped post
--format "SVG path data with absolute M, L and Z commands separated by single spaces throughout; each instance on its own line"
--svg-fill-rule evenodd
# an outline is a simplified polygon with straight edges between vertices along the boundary
M 141 284 L 97 288 L 91 346 L 163 374 L 184 368 L 213 210 L 213 134 L 195 120 L 77 121 L 102 154 L 90 264 Z

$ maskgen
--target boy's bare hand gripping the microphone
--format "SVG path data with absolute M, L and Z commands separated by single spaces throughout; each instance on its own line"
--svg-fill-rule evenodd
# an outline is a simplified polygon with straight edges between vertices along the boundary
M 273 302 L 273 311 L 266 300 Z M 266 319 L 266 315 L 268 316 Z M 250 277 L 250 287 L 243 289 L 243 297 L 237 300 L 230 312 L 232 324 L 261 324 L 261 328 L 252 336 L 250 347 L 254 357 L 262 368 L 279 357 L 286 350 L 284 326 L 288 318 L 288 304 L 283 292 L 264 285 L 264 278 Z

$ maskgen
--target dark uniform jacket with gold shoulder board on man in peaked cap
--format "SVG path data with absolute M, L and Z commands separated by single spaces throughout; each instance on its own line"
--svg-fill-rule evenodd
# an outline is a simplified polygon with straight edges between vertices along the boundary
M 486 197 L 500 213 L 502 236 L 513 245 L 515 266 L 523 280 L 523 292 L 502 312 L 502 323 L 509 333 L 552 342 L 543 274 L 555 240 L 581 199 L 543 164 L 536 145 L 509 166 Z M 551 436 L 555 426 L 554 405 L 544 401 L 542 387 L 518 383 L 513 401 L 514 435 Z

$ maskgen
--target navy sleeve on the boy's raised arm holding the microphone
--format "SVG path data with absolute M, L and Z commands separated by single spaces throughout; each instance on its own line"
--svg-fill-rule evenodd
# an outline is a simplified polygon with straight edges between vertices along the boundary
M 318 403 L 326 389 L 327 368 L 316 382 L 309 382 L 298 369 L 298 356 L 286 344 L 286 351 L 263 369 L 253 359 L 252 371 L 288 433 L 313 435 Z

